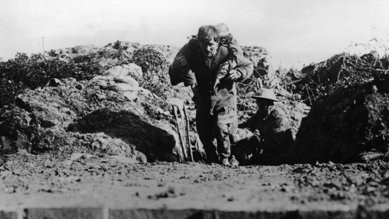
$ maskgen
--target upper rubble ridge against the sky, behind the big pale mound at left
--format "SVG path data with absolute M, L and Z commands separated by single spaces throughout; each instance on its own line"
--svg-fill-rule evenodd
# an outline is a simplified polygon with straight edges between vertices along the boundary
M 150 90 L 163 100 L 180 98 L 191 100 L 191 91 L 182 84 L 172 87 L 168 76 L 169 65 L 173 62 L 179 48 L 169 45 L 154 45 L 116 41 L 99 48 L 95 46 L 77 46 L 66 49 L 52 50 L 49 55 L 55 54 L 65 60 L 79 62 L 93 62 L 101 66 L 102 71 L 112 68 L 127 68 L 128 65 L 136 64 L 141 67 L 142 75 L 133 76 L 139 81 L 141 87 Z M 103 72 L 101 74 L 106 75 Z M 161 106 L 162 107 L 162 106 Z

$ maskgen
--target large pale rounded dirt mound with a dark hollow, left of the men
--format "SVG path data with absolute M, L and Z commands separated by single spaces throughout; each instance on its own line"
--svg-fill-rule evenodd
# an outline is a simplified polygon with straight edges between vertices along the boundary
M 1 115 L 2 153 L 97 150 L 140 161 L 143 154 L 149 161 L 173 159 L 174 126 L 169 118 L 150 116 L 161 110 L 152 93 L 134 81 L 130 76 L 64 79 L 57 87 L 20 94 L 17 106 Z

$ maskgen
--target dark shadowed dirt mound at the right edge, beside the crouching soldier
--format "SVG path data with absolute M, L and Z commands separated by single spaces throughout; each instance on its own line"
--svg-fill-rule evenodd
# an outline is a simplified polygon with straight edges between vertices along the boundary
M 301 122 L 299 162 L 357 162 L 384 158 L 389 146 L 387 73 L 316 101 Z

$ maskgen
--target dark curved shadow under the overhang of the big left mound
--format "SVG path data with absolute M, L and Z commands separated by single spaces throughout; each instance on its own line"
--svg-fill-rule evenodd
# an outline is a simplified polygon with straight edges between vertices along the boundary
M 154 162 L 157 157 L 165 161 L 177 159 L 172 153 L 176 145 L 174 136 L 129 111 L 99 109 L 70 124 L 68 131 L 104 132 L 112 138 L 120 138 L 127 144 L 136 146 L 138 151 L 146 155 L 149 162 Z

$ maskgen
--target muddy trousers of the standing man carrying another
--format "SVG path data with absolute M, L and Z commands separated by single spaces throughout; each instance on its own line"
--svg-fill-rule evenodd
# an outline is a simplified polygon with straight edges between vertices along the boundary
M 218 163 L 231 155 L 230 139 L 238 127 L 236 110 L 222 107 L 213 116 L 209 110 L 196 111 L 196 129 L 203 144 L 207 160 Z

